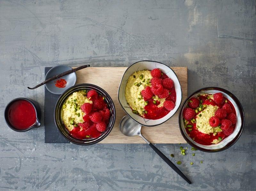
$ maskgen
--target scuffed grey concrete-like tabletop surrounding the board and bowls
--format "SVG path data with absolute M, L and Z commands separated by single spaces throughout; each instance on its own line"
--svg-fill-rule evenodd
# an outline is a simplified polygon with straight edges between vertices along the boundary
M 1 0 L 0 190 L 255 190 L 255 11 L 255 1 L 244 0 Z M 45 144 L 44 126 L 17 133 L 4 122 L 16 97 L 43 110 L 44 87 L 26 87 L 43 81 L 46 66 L 139 60 L 188 66 L 188 93 L 220 86 L 244 107 L 244 132 L 226 151 L 193 157 L 188 144 L 157 144 L 182 161 L 192 185 L 146 144 Z

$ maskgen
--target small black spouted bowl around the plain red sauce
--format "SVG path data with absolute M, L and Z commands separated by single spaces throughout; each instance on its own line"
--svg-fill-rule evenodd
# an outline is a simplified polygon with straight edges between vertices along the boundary
M 9 107 L 12 105 L 12 103 L 14 103 L 15 101 L 18 101 L 18 100 L 26 100 L 28 101 L 29 103 L 32 104 L 32 106 L 35 108 L 35 111 L 36 111 L 36 122 L 31 125 L 30 127 L 28 127 L 27 129 L 16 129 L 15 127 L 12 126 L 12 124 L 10 123 L 10 121 L 8 120 L 8 109 Z M 40 107 L 39 107 L 39 104 L 34 101 L 33 99 L 27 99 L 27 98 L 16 98 L 16 99 L 12 99 L 12 101 L 10 101 L 6 107 L 5 107 L 5 110 L 4 110 L 4 119 L 5 119 L 5 122 L 6 124 L 14 131 L 17 131 L 17 132 L 24 132 L 24 131 L 28 131 L 29 129 L 32 129 L 34 127 L 40 127 L 41 126 L 41 122 L 40 122 L 40 119 L 41 119 L 41 110 L 40 110 Z

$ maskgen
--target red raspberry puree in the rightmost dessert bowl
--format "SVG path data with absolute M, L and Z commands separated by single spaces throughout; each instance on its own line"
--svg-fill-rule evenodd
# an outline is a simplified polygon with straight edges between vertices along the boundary
M 202 104 L 218 106 L 220 108 L 225 104 L 225 102 L 223 102 L 222 104 L 216 104 L 213 100 L 209 101 L 209 99 L 207 99 L 206 96 L 200 96 L 199 99 L 203 100 Z M 224 100 L 225 99 L 227 99 L 227 98 L 224 97 Z M 227 101 L 228 101 L 227 103 L 231 106 L 233 113 L 236 114 L 236 110 L 235 110 L 233 104 L 228 99 L 227 99 Z M 201 112 L 198 112 L 197 114 L 200 114 L 200 113 Z M 196 119 L 196 116 L 194 118 Z M 196 123 L 191 123 L 191 121 L 189 121 L 188 125 L 192 125 L 193 126 L 191 132 L 188 131 L 189 128 L 186 128 L 186 131 L 187 131 L 188 135 L 191 138 L 194 138 L 194 141 L 196 143 L 199 143 L 199 144 L 212 145 L 212 141 L 214 139 L 218 139 L 218 137 L 221 137 L 222 140 L 223 140 L 224 138 L 227 137 L 223 132 L 219 132 L 215 136 L 213 136 L 213 133 L 210 133 L 210 135 L 201 133 L 200 131 L 198 131 L 196 129 Z

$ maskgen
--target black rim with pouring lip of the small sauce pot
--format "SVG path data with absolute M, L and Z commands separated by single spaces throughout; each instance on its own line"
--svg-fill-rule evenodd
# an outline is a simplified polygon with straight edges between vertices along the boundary
M 11 128 L 12 130 L 14 131 L 17 131 L 17 132 L 25 132 L 25 131 L 28 131 L 32 128 L 36 128 L 34 127 L 34 125 L 36 124 L 36 122 L 31 125 L 30 127 L 28 127 L 27 129 L 17 129 L 15 128 L 14 126 L 12 126 L 10 124 L 10 121 L 8 120 L 8 115 L 7 115 L 7 112 L 8 112 L 8 109 L 9 107 L 12 105 L 12 103 L 14 103 L 15 101 L 18 101 L 18 100 L 25 100 L 25 101 L 28 101 L 29 103 L 32 104 L 32 106 L 34 107 L 35 109 L 35 112 L 36 112 L 36 122 L 38 121 L 41 125 L 41 121 L 39 120 L 39 114 L 38 114 L 38 110 L 36 108 L 36 105 L 33 103 L 33 99 L 28 99 L 28 98 L 15 98 L 15 99 L 12 99 L 6 106 L 5 106 L 5 109 L 4 109 L 4 120 L 5 120 L 5 123 L 8 125 L 9 128 Z

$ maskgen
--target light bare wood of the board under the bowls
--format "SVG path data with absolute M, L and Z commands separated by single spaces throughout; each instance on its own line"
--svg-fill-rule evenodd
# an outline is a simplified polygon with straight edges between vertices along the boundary
M 89 67 L 76 72 L 76 84 L 90 83 L 103 88 L 114 101 L 116 107 L 116 122 L 110 134 L 100 143 L 146 143 L 141 137 L 124 136 L 119 131 L 119 122 L 125 115 L 117 99 L 120 81 L 126 67 Z M 182 88 L 182 103 L 188 96 L 188 72 L 187 67 L 172 67 L 177 74 Z M 180 109 L 171 119 L 156 127 L 142 127 L 141 133 L 151 143 L 186 143 L 180 134 L 178 114 Z

